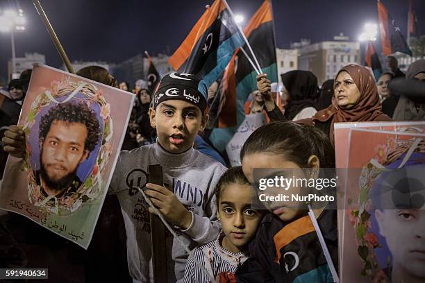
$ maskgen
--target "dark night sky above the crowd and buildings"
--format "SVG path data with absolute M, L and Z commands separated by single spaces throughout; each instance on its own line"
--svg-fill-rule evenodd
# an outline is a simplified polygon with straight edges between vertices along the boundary
M 211 0 L 210 0 L 211 1 Z M 228 0 L 245 22 L 262 0 Z M 206 1 L 180 0 L 43 0 L 47 17 L 70 60 L 122 62 L 149 51 L 172 54 L 197 22 Z M 212 3 L 212 1 L 211 1 Z M 378 23 L 374 0 L 274 0 L 277 46 L 309 38 L 332 40 L 344 33 L 356 40 L 366 22 Z M 406 36 L 408 0 L 383 0 Z M 419 31 L 425 31 L 425 1 L 413 0 Z M 47 65 L 60 67 L 58 55 L 31 0 L 0 0 L 0 8 L 22 8 L 26 31 L 15 34 L 17 57 L 24 52 L 46 55 Z M 11 56 L 10 34 L 0 33 L 0 76 L 7 76 Z

